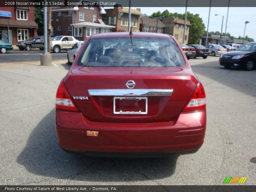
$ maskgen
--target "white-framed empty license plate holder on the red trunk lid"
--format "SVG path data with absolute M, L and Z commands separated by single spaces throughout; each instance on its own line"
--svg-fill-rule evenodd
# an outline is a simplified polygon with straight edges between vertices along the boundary
M 145 115 L 148 114 L 147 97 L 114 97 L 114 114 Z

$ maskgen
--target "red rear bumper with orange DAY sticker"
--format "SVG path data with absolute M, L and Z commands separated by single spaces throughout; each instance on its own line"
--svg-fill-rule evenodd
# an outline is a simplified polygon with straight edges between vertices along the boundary
M 206 110 L 181 113 L 175 124 L 92 122 L 81 113 L 56 110 L 55 129 L 60 147 L 68 151 L 193 153 L 204 142 Z M 87 131 L 98 136 L 87 136 Z

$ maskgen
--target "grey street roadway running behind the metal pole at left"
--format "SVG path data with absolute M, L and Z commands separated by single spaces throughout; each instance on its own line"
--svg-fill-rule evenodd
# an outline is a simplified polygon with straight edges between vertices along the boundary
M 40 54 L 44 54 L 44 51 L 37 49 L 31 51 L 8 51 L 6 53 L 0 53 L 0 63 L 12 63 L 20 61 L 38 61 L 40 60 Z M 52 53 L 52 60 L 67 59 L 67 51 L 61 51 L 60 53 Z

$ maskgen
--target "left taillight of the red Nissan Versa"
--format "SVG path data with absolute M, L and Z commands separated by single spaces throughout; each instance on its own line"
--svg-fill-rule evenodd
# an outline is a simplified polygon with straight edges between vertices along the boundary
M 55 106 L 57 109 L 79 111 L 72 102 L 63 80 L 60 82 L 60 85 L 57 90 Z

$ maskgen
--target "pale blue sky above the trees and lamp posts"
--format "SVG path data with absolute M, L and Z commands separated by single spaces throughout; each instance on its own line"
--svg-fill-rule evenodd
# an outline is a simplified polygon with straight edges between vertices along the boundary
M 140 8 L 142 13 L 151 15 L 153 12 L 163 12 L 168 10 L 169 12 L 185 13 L 185 7 L 132 7 L 132 9 Z M 207 30 L 209 7 L 188 7 L 188 12 L 193 14 L 198 13 L 203 19 L 205 30 Z M 228 7 L 211 7 L 210 21 L 209 21 L 209 32 L 210 31 L 221 31 L 222 16 L 224 16 L 223 29 L 225 32 L 226 20 L 227 20 Z M 215 14 L 219 14 L 215 16 Z M 256 7 L 229 7 L 228 12 L 228 24 L 227 33 L 231 36 L 243 37 L 245 21 L 250 21 L 246 25 L 245 36 L 251 37 L 256 41 Z

